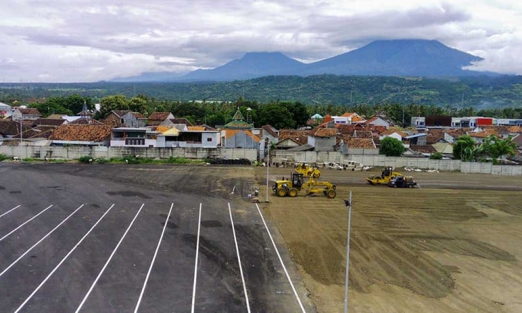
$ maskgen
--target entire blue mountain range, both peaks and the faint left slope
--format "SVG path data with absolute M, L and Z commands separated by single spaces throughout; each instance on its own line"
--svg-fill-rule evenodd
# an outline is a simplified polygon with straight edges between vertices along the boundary
M 234 81 L 266 76 L 317 74 L 397 76 L 397 77 L 464 77 L 484 73 L 463 70 L 472 62 L 482 61 L 443 45 L 437 40 L 378 40 L 345 54 L 315 63 L 301 63 L 280 52 L 251 52 L 211 70 L 196 70 L 182 77 L 167 73 L 145 73 L 135 81 Z M 126 78 L 125 81 L 132 77 Z M 140 80 L 145 79 L 145 80 Z M 118 80 L 122 81 L 122 80 Z

